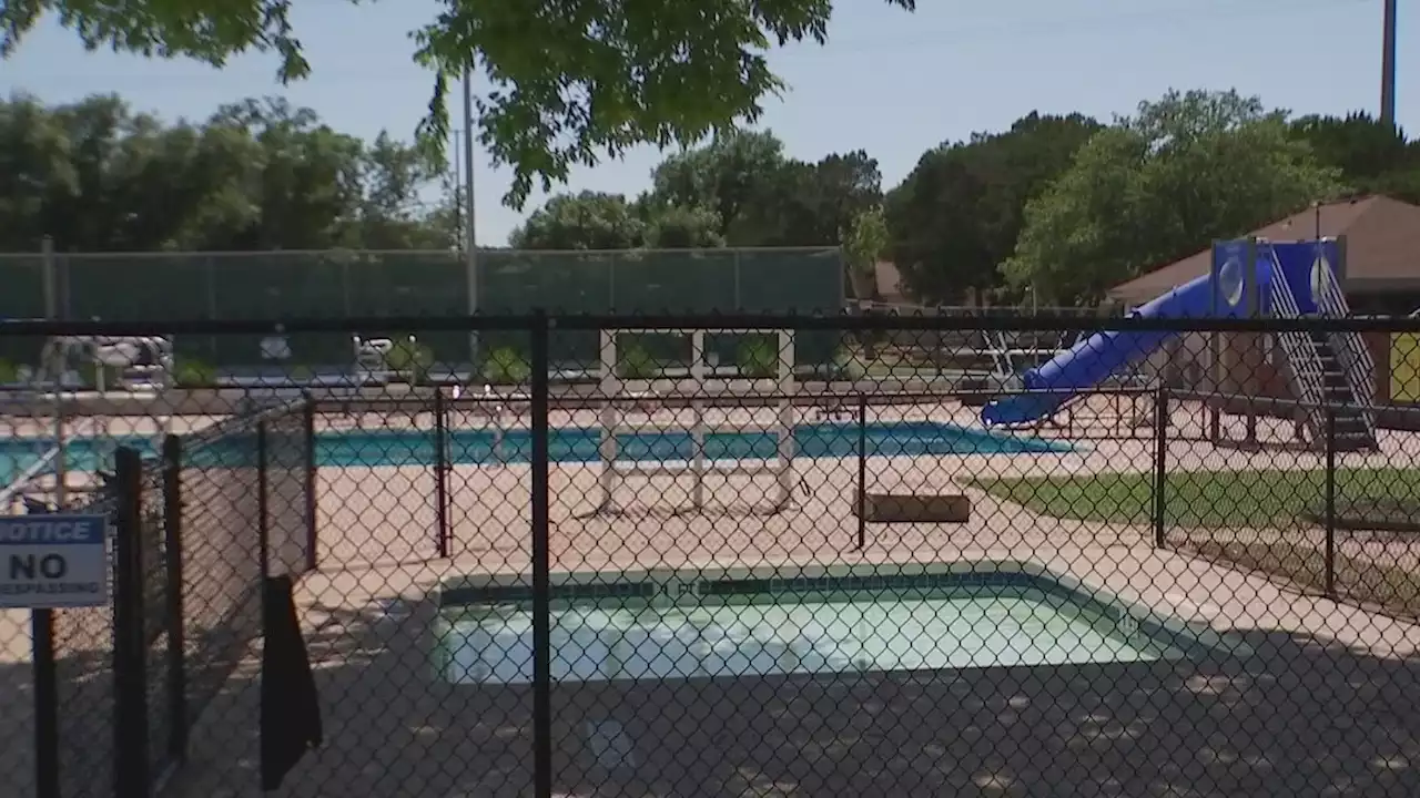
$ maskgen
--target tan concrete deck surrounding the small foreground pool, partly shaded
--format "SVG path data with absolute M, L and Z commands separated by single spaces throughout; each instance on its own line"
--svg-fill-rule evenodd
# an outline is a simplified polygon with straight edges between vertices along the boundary
M 1183 425 L 1187 409 L 1176 412 Z M 869 409 L 869 420 L 919 416 L 964 422 L 974 412 Z M 413 422 L 427 429 L 423 419 Z M 568 413 L 554 423 L 594 420 Z M 1382 453 L 1348 454 L 1343 464 L 1407 466 L 1410 452 L 1420 452 L 1420 436 L 1386 433 Z M 1071 453 L 873 457 L 868 473 L 869 486 L 885 490 L 957 490 L 967 477 L 1147 470 L 1152 457 L 1152 432 L 1143 429 L 1140 440 L 1092 442 Z M 1169 461 L 1180 470 L 1311 469 L 1321 459 L 1177 440 Z M 646 511 L 591 518 L 579 515 L 596 497 L 595 467 L 554 466 L 552 568 L 1025 559 L 1235 632 L 1254 653 L 1225 662 L 561 684 L 552 694 L 555 794 L 1420 794 L 1413 662 L 1420 626 L 1154 550 L 1149 528 L 1047 518 L 970 488 L 968 524 L 869 525 L 868 547 L 858 552 L 856 461 L 798 466 L 798 507 L 780 515 L 667 514 L 655 507 L 662 497 L 684 497 L 672 486 L 686 480 L 660 477 L 635 480 L 640 487 L 623 494 Z M 325 469 L 322 569 L 301 579 L 297 599 L 327 743 L 297 765 L 284 795 L 531 789 L 531 690 L 444 683 L 429 657 L 435 606 L 427 601 L 452 575 L 527 571 L 528 473 L 527 466 L 456 467 L 454 557 L 435 559 L 427 467 Z M 740 505 L 746 496 L 767 498 L 771 484 L 734 477 L 716 497 Z M 0 642 L 16 638 L 17 622 L 0 616 Z M 165 795 L 258 795 L 257 646 L 248 653 L 195 728 L 192 758 Z M 736 706 L 744 709 L 727 710 Z M 592 755 L 588 724 L 611 728 L 608 721 L 625 731 L 619 738 L 633 767 L 605 767 Z

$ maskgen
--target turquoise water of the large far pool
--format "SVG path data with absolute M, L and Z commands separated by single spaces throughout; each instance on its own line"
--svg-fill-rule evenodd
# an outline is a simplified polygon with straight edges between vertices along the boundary
M 868 426 L 869 456 L 920 454 L 995 454 L 1064 452 L 1066 446 L 1042 440 L 995 434 L 956 425 L 929 422 L 875 423 Z M 648 430 L 618 436 L 621 457 L 626 460 L 689 460 L 694 442 L 680 430 Z M 851 457 L 858 454 L 858 425 L 821 423 L 794 429 L 801 457 Z M 557 463 L 591 463 L 598 459 L 601 430 L 596 427 L 557 427 L 548 439 L 548 452 Z M 67 463 L 71 470 L 95 470 L 112 457 L 116 443 L 152 452 L 156 439 L 72 439 Z M 484 429 L 454 429 L 447 434 L 449 459 L 454 464 L 527 463 L 531 453 L 528 430 L 508 430 L 501 436 Z M 0 484 L 23 470 L 51 446 L 48 440 L 10 439 L 0 442 Z M 753 460 L 775 456 L 772 433 L 716 433 L 706 436 L 706 457 L 711 460 Z M 253 440 L 229 439 L 193 452 L 196 461 L 240 464 L 250 457 Z M 416 466 L 433 464 L 435 440 L 429 430 L 338 430 L 322 432 L 315 440 L 315 460 L 321 466 Z

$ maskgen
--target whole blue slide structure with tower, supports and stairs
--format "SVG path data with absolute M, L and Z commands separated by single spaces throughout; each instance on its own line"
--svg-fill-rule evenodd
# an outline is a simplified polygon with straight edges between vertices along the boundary
M 1213 247 L 1208 274 L 1179 285 L 1136 308 L 1133 318 L 1346 318 L 1350 310 L 1338 271 L 1345 246 L 1336 239 L 1268 241 L 1244 239 Z M 1068 409 L 1118 373 L 1145 361 L 1177 334 L 1167 331 L 1103 331 L 1076 342 L 1045 365 L 1021 375 L 1021 390 L 981 410 L 987 426 L 1039 423 Z M 1208 334 L 1210 373 L 1206 376 L 1210 434 L 1214 443 L 1234 443 L 1223 433 L 1227 395 L 1268 396 L 1269 362 L 1264 352 L 1279 349 L 1281 378 L 1289 413 L 1304 443 L 1321 446 L 1328 437 L 1342 450 L 1376 447 L 1375 362 L 1355 332 Z M 1257 444 L 1257 410 L 1248 403 L 1247 439 Z

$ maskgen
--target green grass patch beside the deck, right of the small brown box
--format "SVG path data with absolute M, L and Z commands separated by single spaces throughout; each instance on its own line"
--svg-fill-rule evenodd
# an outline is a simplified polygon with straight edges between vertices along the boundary
M 1042 515 L 1113 524 L 1153 518 L 1152 473 L 977 479 L 971 486 Z M 1177 527 L 1277 527 L 1323 503 L 1326 474 L 1309 471 L 1173 471 L 1164 521 Z M 1420 498 L 1420 469 L 1338 469 L 1336 508 Z

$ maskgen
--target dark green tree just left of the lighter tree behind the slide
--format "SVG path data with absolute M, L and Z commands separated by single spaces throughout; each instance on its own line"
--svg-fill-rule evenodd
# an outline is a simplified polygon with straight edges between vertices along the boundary
M 889 257 L 905 288 L 947 304 L 961 301 L 968 288 L 995 288 L 1027 200 L 1099 129 L 1078 114 L 1031 112 L 1003 133 L 976 133 L 923 155 L 886 204 Z

